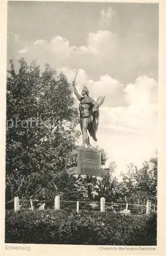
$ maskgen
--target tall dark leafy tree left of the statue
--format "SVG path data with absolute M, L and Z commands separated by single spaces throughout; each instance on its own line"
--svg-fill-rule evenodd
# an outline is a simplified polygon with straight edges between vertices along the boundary
M 44 72 L 34 61 L 13 61 L 7 76 L 6 177 L 24 180 L 31 173 L 58 172 L 65 154 L 75 150 L 80 132 L 72 89 L 66 77 L 49 65 Z M 18 177 L 17 176 L 17 177 Z M 21 180 L 22 180 L 21 179 Z M 19 180 L 19 183 L 21 183 Z M 13 183 L 13 181 L 12 181 Z M 15 191 L 19 188 L 19 184 Z M 7 189 L 7 191 L 9 191 Z

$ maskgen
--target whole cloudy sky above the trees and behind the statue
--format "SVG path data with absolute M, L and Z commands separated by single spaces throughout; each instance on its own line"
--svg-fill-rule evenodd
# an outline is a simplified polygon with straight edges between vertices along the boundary
M 155 156 L 158 4 L 8 2 L 7 59 L 20 57 L 41 70 L 48 62 L 69 82 L 79 69 L 78 89 L 106 96 L 91 142 L 116 162 L 116 176 Z

